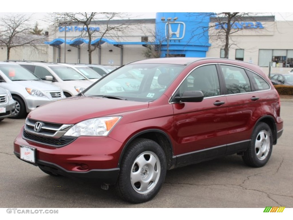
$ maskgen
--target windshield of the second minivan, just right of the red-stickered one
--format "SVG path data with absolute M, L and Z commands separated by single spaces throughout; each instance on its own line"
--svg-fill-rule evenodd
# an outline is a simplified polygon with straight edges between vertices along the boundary
M 71 67 L 55 66 L 50 67 L 60 79 L 67 80 L 86 80 L 86 78 Z

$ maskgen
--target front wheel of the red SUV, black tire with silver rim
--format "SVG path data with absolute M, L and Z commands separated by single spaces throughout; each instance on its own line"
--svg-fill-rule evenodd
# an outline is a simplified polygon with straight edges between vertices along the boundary
M 137 138 L 122 158 L 115 189 L 128 202 L 147 202 L 159 192 L 165 177 L 166 156 L 161 146 Z

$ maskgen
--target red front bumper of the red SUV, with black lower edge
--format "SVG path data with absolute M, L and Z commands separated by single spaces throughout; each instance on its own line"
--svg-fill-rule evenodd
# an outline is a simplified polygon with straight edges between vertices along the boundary
M 24 145 L 36 148 L 36 162 L 33 165 L 43 170 L 87 182 L 113 185 L 117 181 L 122 151 L 119 141 L 107 136 L 80 136 L 63 147 L 52 147 L 25 140 L 22 134 L 23 128 L 14 140 L 14 154 L 18 158 L 20 145 Z

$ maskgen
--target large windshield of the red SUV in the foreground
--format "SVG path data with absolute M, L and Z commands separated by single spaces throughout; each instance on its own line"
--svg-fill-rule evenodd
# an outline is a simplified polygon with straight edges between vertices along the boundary
M 129 64 L 100 79 L 85 96 L 115 96 L 132 101 L 159 98 L 185 68 L 171 64 Z

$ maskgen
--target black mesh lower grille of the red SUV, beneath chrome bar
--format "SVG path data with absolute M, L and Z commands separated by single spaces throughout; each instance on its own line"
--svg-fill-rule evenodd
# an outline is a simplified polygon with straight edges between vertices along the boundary
M 53 147 L 63 147 L 72 141 L 74 141 L 77 137 L 68 137 L 68 136 L 62 136 L 61 138 L 54 139 L 54 138 L 46 138 L 46 137 L 41 137 L 37 136 L 34 134 L 30 134 L 23 130 L 23 138 L 28 140 L 28 141 L 33 141 L 36 143 L 41 143 Z

